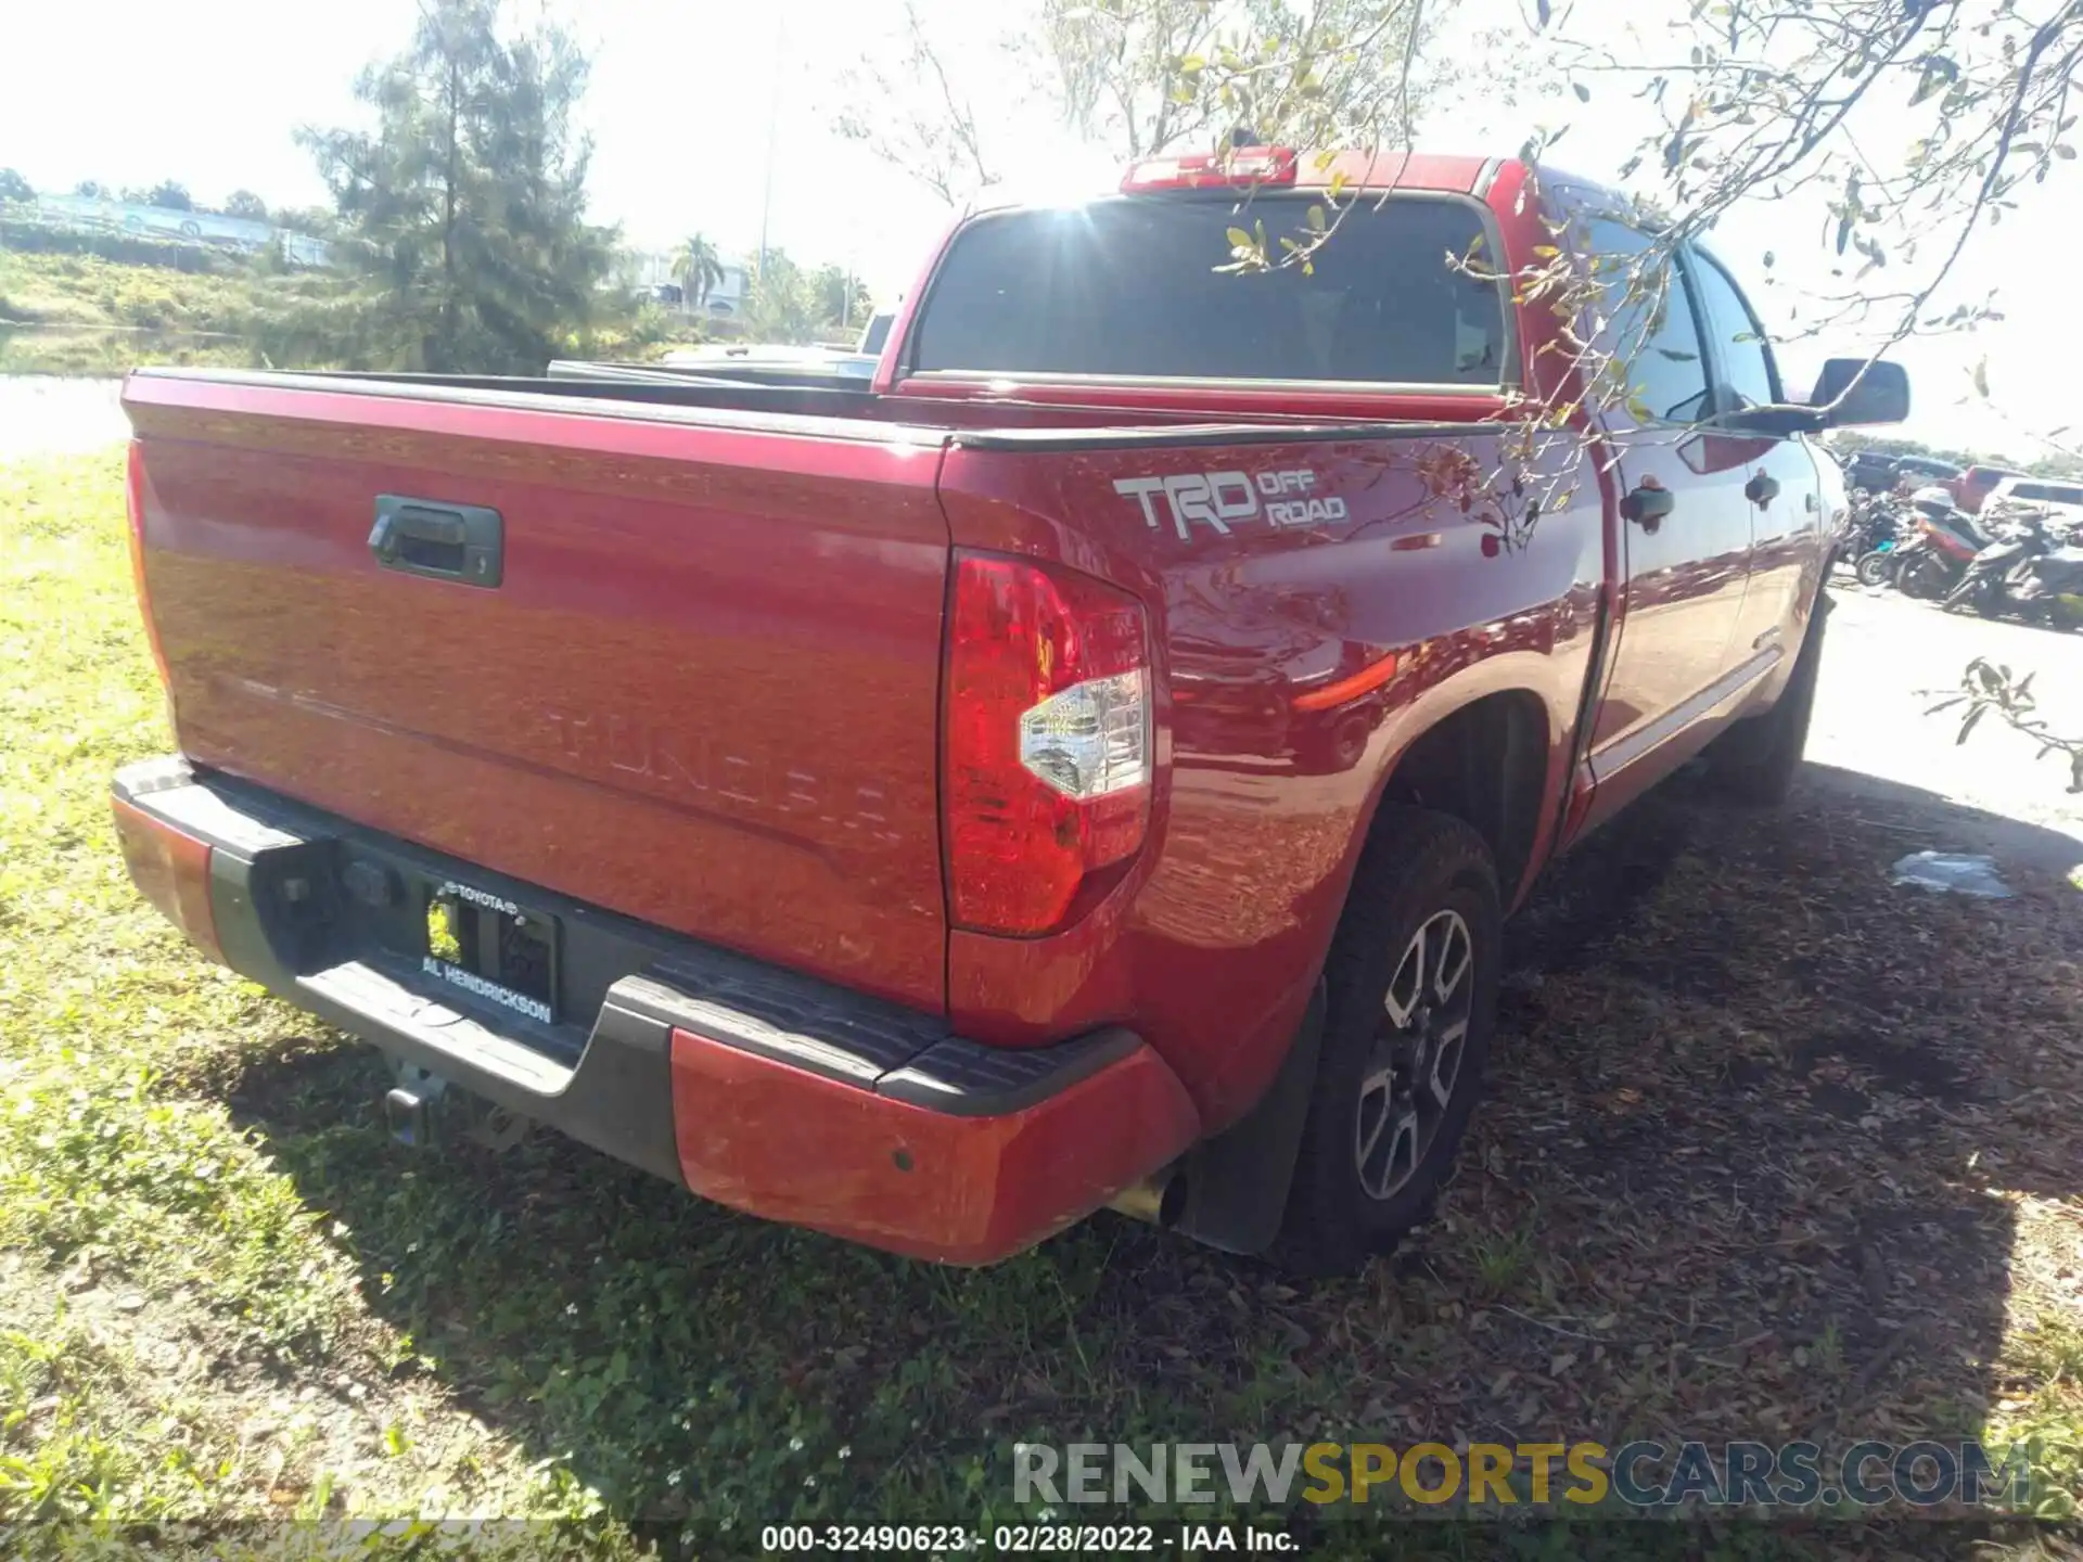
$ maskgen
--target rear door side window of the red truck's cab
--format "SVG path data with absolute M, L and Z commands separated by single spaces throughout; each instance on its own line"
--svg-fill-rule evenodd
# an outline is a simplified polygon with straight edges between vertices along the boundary
M 1593 346 L 1618 360 L 1629 410 L 1646 423 L 1698 423 L 1710 392 L 1685 269 L 1610 219 L 1589 219 L 1581 242 L 1606 298 Z

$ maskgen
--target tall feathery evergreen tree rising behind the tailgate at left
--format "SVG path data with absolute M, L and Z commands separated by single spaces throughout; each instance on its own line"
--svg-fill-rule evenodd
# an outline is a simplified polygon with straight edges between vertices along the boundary
M 614 233 L 585 221 L 573 129 L 587 60 L 544 25 L 510 40 L 498 0 L 427 0 L 410 48 L 356 96 L 375 131 L 302 131 L 360 277 L 342 354 L 433 373 L 539 373 L 602 300 Z

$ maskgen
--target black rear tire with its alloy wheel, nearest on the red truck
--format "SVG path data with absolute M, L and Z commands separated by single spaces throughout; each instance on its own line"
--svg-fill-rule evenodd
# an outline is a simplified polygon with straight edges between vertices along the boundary
M 1441 998 L 1456 927 L 1466 968 Z M 1412 985 L 1421 933 L 1429 943 Z M 1489 1060 L 1502 941 L 1498 868 L 1483 837 L 1458 818 L 1383 804 L 1325 962 L 1323 1050 L 1287 1212 L 1266 1254 L 1275 1264 L 1344 1275 L 1431 1214 Z M 1416 1087 L 1450 1064 L 1444 1100 L 1427 1089 L 1421 1114 Z

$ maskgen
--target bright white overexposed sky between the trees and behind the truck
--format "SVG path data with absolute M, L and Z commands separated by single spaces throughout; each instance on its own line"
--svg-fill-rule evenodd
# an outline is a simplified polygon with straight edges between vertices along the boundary
M 1060 198 L 1112 185 L 1114 162 L 1033 104 L 1019 71 L 996 50 L 1023 0 L 917 2 L 989 117 L 1014 190 Z M 1679 2 L 1635 0 L 1625 15 L 1646 17 Z M 854 269 L 887 304 L 910 285 L 950 221 L 923 185 L 833 129 L 846 71 L 894 37 L 902 0 L 510 4 L 523 12 L 550 8 L 589 46 L 583 121 L 594 137 L 592 210 L 642 248 L 667 250 L 700 231 L 727 254 L 752 254 L 764 233 L 798 260 Z M 246 187 L 271 204 L 325 200 L 294 131 L 358 123 L 356 73 L 398 52 L 417 17 L 417 0 L 6 6 L 0 29 L 12 69 L 0 94 L 0 167 L 21 169 L 40 190 L 62 192 L 81 179 L 112 187 L 177 179 L 202 200 Z M 1510 23 L 1519 6 L 1466 0 L 1464 15 Z M 1568 100 L 1564 112 L 1554 98 L 1506 104 L 1471 92 L 1421 125 L 1421 146 L 1510 154 L 1535 125 L 1562 121 L 1571 129 L 1554 158 L 1591 177 L 1610 177 L 1648 129 L 1604 98 L 1591 108 Z M 2083 240 L 2079 194 L 2083 175 L 2068 173 L 2066 185 L 2035 192 L 2000 229 L 1971 242 L 1954 292 L 1979 298 L 1996 287 L 2006 321 L 1973 337 L 1912 342 L 1891 354 L 1916 385 L 1904 433 L 2029 456 L 2035 442 L 2021 427 L 2083 427 L 2071 369 L 2073 344 L 2083 342 L 2071 269 L 2046 264 L 2075 254 Z M 1825 277 L 1823 233 L 1821 212 L 1762 202 L 1716 233 L 1716 248 L 1775 331 L 1804 267 L 1816 281 Z M 1764 250 L 1779 256 L 1775 275 L 1787 285 L 1760 285 L 1756 256 Z M 1787 379 L 1802 387 L 1825 352 L 1798 344 L 1781 356 Z M 1989 402 L 1971 389 L 1979 360 L 1987 360 Z

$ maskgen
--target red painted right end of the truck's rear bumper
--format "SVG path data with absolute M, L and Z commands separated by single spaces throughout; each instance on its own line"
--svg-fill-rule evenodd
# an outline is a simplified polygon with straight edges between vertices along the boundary
M 673 1031 L 687 1187 L 912 1258 L 987 1264 L 1179 1156 L 1200 1116 L 1148 1048 L 1025 1112 L 950 1116 Z

